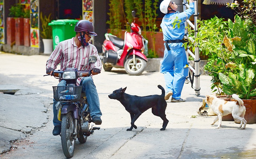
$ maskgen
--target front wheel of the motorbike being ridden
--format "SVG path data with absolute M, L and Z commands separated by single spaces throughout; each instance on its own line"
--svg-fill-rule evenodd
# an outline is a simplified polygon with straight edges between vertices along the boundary
M 69 112 L 63 115 L 61 122 L 61 145 L 63 153 L 67 158 L 72 158 L 74 155 L 75 140 L 73 132 L 73 114 L 72 112 Z

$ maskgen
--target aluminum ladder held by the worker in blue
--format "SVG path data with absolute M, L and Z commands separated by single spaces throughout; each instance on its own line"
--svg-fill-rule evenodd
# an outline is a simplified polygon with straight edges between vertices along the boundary
M 187 8 L 189 8 L 189 5 L 188 5 L 188 2 L 187 0 L 183 0 L 183 11 L 185 11 Z M 195 13 L 194 13 L 194 24 L 192 22 L 190 22 L 190 20 L 187 20 L 185 22 L 185 26 L 188 27 L 188 24 L 190 25 L 190 27 L 192 27 L 195 31 L 195 38 L 197 36 L 197 20 L 198 20 L 198 0 L 194 0 L 194 8 L 195 8 Z M 188 39 L 188 29 L 185 28 L 185 36 L 184 36 L 185 39 Z M 193 40 L 193 39 L 190 39 L 192 41 L 195 42 L 196 44 L 196 47 L 195 47 L 195 54 L 193 52 L 191 52 L 189 49 L 187 49 L 186 51 L 186 55 L 187 55 L 187 60 L 188 60 L 188 56 L 191 55 L 193 58 L 194 58 L 194 62 L 195 62 L 195 68 L 193 68 L 191 65 L 188 65 L 189 67 L 189 72 L 192 71 L 193 72 L 193 78 L 189 78 L 190 76 L 188 75 L 187 78 L 186 78 L 186 81 L 185 83 L 188 83 L 188 81 L 191 83 L 191 87 L 194 88 L 195 90 L 195 94 L 197 96 L 200 95 L 200 57 L 199 57 L 199 47 L 197 45 L 197 41 Z M 195 80 L 194 80 L 194 77 L 195 77 Z

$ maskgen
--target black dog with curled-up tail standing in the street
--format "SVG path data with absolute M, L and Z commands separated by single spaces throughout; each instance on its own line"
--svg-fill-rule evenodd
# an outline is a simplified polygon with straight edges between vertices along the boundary
M 131 131 L 133 128 L 137 129 L 137 127 L 134 125 L 134 122 L 143 112 L 149 108 L 152 108 L 152 113 L 154 115 L 160 116 L 160 118 L 163 120 L 163 127 L 160 130 L 166 129 L 169 121 L 166 119 L 165 114 L 167 106 L 167 103 L 164 100 L 165 91 L 161 85 L 158 85 L 157 87 L 162 90 L 161 95 L 150 95 L 144 97 L 132 96 L 130 94 L 124 93 L 126 88 L 117 89 L 113 91 L 112 94 L 108 95 L 110 99 L 116 99 L 120 101 L 126 111 L 130 113 L 132 126 L 126 131 Z

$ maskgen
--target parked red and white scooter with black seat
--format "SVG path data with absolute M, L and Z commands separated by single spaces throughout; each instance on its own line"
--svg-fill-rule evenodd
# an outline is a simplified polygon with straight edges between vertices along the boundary
M 135 11 L 132 11 L 135 18 Z M 129 24 L 129 23 L 127 23 Z M 124 33 L 124 39 L 111 33 L 105 34 L 100 55 L 103 69 L 110 71 L 113 67 L 125 68 L 129 75 L 141 75 L 147 66 L 148 40 L 141 35 L 141 28 L 135 23 L 129 24 L 131 32 Z

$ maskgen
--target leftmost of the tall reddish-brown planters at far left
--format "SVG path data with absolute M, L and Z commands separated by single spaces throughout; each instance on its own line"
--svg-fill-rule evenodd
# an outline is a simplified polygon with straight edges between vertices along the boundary
M 15 41 L 15 20 L 13 17 L 7 17 L 6 22 L 6 42 L 11 45 Z

